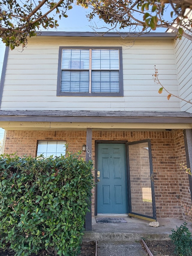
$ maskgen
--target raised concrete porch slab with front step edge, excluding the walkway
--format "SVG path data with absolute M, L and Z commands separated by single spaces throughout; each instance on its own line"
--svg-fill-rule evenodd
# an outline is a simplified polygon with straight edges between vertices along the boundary
M 101 217 L 98 216 L 98 217 Z M 104 217 L 104 215 L 102 215 Z M 109 216 L 105 216 L 109 217 Z M 185 220 L 176 218 L 158 218 L 159 227 L 149 226 L 149 221 L 139 218 L 128 218 L 127 216 L 111 216 L 125 218 L 127 223 L 97 223 L 95 218 L 92 218 L 92 231 L 85 232 L 84 241 L 138 241 L 142 238 L 161 240 L 169 239 L 171 230 L 179 227 Z M 187 222 L 187 227 L 192 233 L 192 223 Z

